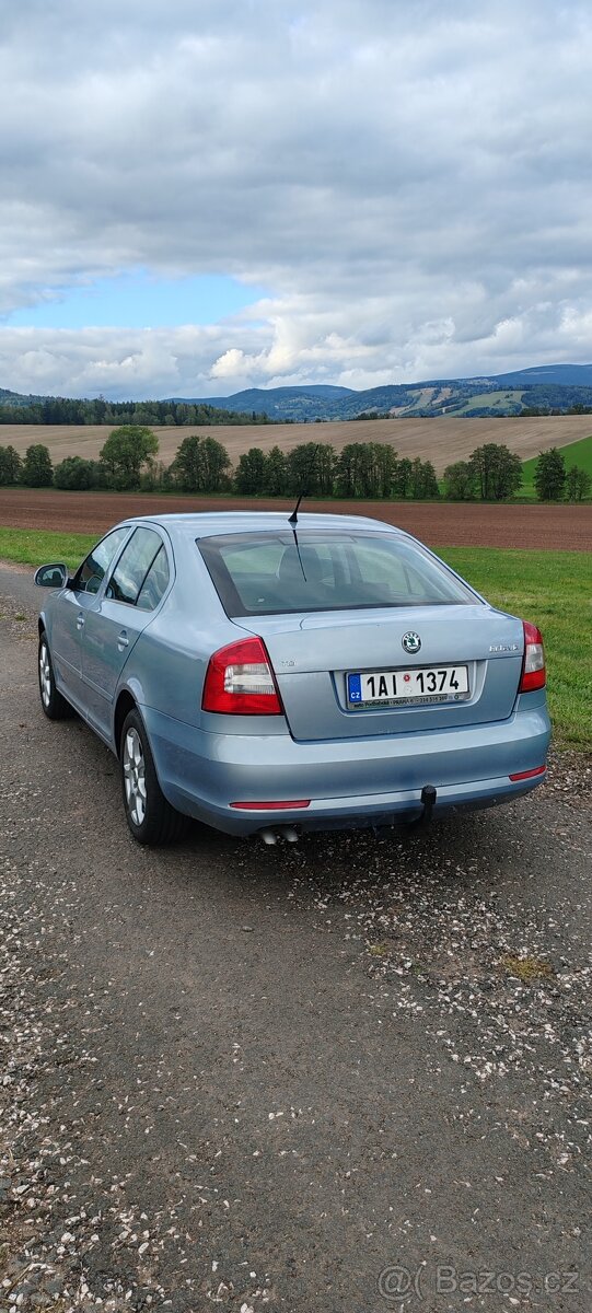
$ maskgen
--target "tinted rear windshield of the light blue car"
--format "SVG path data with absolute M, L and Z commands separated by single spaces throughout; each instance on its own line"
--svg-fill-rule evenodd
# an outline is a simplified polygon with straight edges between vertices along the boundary
M 395 534 L 291 529 L 198 538 L 227 616 L 445 607 L 475 595 Z

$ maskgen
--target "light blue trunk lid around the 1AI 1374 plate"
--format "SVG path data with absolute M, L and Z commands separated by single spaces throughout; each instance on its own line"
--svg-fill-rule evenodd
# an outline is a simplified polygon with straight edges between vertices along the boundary
M 475 603 L 242 617 L 263 638 L 294 739 L 369 738 L 478 725 L 512 714 L 524 653 L 522 622 Z M 421 647 L 410 655 L 406 633 Z M 348 705 L 347 675 L 466 666 L 457 701 Z

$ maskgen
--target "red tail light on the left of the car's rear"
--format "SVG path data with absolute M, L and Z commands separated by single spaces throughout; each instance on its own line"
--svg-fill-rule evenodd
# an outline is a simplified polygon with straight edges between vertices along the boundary
M 281 716 L 282 704 L 261 638 L 244 638 L 210 658 L 201 705 L 223 716 Z

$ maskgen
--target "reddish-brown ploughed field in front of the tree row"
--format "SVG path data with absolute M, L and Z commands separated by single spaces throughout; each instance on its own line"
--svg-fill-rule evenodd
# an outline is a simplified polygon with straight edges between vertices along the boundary
M 349 425 L 350 427 L 350 425 Z M 0 490 L 0 525 L 104 533 L 129 515 L 176 511 L 286 511 L 293 500 L 278 498 L 180 498 L 138 494 Z M 592 550 L 592 506 L 490 506 L 452 502 L 315 502 L 307 511 L 369 515 L 415 533 L 433 548 L 532 548 L 557 551 Z

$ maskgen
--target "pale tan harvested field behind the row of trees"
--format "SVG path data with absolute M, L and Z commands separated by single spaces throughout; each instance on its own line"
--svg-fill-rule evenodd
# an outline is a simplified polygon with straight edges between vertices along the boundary
M 43 442 L 54 465 L 67 456 L 95 460 L 114 425 L 64 424 L 0 424 L 0 446 L 12 446 L 24 454 L 32 442 Z M 184 437 L 210 435 L 226 446 L 236 465 L 242 452 L 260 446 L 269 452 L 280 446 L 290 452 L 299 442 L 331 442 L 337 452 L 347 442 L 391 442 L 400 457 L 416 456 L 432 461 L 436 473 L 446 465 L 466 460 L 483 442 L 505 442 L 522 461 L 550 446 L 567 446 L 592 432 L 591 415 L 551 415 L 521 419 L 385 419 L 353 420 L 328 424 L 261 424 L 188 428 L 155 428 L 159 437 L 159 460 L 169 465 Z

